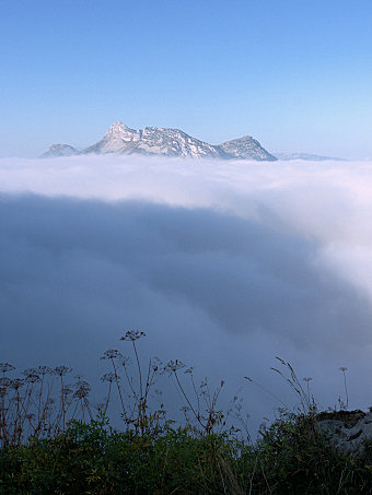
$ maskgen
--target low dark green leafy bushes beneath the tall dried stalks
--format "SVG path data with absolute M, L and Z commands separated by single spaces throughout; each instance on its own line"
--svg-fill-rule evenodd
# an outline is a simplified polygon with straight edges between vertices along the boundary
M 368 494 L 372 449 L 341 455 L 309 417 L 286 417 L 252 446 L 188 428 L 112 431 L 73 423 L 49 439 L 0 451 L 3 494 Z

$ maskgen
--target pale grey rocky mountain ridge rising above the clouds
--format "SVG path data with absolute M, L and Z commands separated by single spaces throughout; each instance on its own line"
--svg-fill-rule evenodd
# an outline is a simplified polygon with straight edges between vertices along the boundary
M 44 157 L 61 156 L 61 144 L 54 144 Z M 146 127 L 144 129 L 130 129 L 123 122 L 113 123 L 105 135 L 95 144 L 79 152 L 74 150 L 69 154 L 131 154 L 161 156 L 182 156 L 191 158 L 222 158 L 222 160 L 277 160 L 268 153 L 258 141 L 251 135 L 212 145 L 191 138 L 179 129 L 165 129 Z M 55 151 L 56 150 L 56 151 Z M 53 154 L 55 153 L 55 154 Z M 66 153 L 67 154 L 67 153 Z

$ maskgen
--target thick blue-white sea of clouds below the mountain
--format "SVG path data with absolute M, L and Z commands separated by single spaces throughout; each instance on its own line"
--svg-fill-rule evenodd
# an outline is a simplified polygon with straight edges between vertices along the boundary
M 127 329 L 143 358 L 237 389 L 253 424 L 313 377 L 372 404 L 372 164 L 0 160 L 0 361 L 93 379 Z M 170 409 L 172 405 L 170 406 Z

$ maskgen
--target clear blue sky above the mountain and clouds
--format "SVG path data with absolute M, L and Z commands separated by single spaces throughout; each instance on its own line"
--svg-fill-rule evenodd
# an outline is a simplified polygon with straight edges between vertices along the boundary
M 0 156 L 115 120 L 372 156 L 372 2 L 0 0 Z

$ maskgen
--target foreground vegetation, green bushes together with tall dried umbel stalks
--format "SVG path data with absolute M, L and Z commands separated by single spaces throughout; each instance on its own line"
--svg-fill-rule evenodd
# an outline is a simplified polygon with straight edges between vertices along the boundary
M 232 408 L 218 410 L 223 382 L 213 392 L 207 382 L 196 387 L 190 369 L 181 376 L 179 362 L 152 361 L 143 373 L 136 344 L 141 337 L 124 337 L 133 368 L 117 350 L 104 354 L 113 370 L 103 377 L 107 396 L 98 414 L 85 381 L 66 385 L 68 368 L 42 366 L 12 378 L 12 366 L 1 364 L 1 494 L 372 494 L 372 446 L 362 456 L 335 451 L 314 428 L 309 379 L 304 390 L 288 363 L 280 361 L 301 410 L 281 411 L 252 443 L 244 428 L 232 426 Z M 150 406 L 158 374 L 171 376 L 184 399 L 182 424 L 166 417 L 161 401 Z M 114 390 L 120 431 L 107 419 Z

